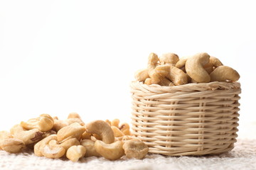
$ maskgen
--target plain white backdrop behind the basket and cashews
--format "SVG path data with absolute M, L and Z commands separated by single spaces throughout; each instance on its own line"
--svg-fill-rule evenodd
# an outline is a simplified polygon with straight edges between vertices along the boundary
M 41 113 L 130 121 L 150 52 L 208 52 L 240 73 L 256 122 L 253 1 L 0 1 L 0 130 Z

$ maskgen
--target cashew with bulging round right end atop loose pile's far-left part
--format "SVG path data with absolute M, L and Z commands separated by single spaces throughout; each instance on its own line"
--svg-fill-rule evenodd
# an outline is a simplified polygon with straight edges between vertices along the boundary
M 41 132 L 51 130 L 54 125 L 53 118 L 48 114 L 42 114 L 38 118 L 32 118 L 27 122 L 21 122 L 21 126 L 26 130 L 38 129 Z

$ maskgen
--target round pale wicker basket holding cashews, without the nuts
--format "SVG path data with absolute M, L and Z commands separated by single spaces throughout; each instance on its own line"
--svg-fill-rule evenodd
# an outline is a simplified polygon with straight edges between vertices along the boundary
M 132 133 L 149 153 L 220 154 L 238 137 L 239 82 L 181 86 L 131 84 Z

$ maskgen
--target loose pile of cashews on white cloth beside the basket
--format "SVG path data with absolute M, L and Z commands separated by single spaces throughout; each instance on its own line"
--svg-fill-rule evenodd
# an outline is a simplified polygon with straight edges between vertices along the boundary
M 14 125 L 10 131 L 0 131 L 0 149 L 9 153 L 33 149 L 38 157 L 66 157 L 78 162 L 82 157 L 105 157 L 116 160 L 143 159 L 149 148 L 131 135 L 128 123 L 119 119 L 95 120 L 84 123 L 78 113 L 66 120 L 48 114 Z

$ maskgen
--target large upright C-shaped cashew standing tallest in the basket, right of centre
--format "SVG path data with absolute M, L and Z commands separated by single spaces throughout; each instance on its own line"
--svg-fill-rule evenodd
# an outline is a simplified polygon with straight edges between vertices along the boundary
M 185 65 L 189 77 L 198 83 L 210 82 L 210 75 L 206 72 L 206 69 L 203 68 L 203 65 L 207 64 L 209 60 L 210 55 L 206 52 L 189 57 Z

